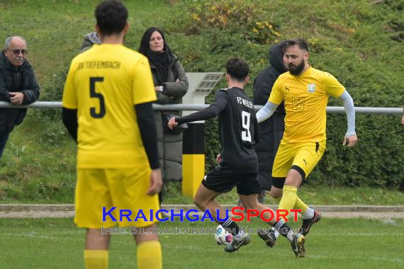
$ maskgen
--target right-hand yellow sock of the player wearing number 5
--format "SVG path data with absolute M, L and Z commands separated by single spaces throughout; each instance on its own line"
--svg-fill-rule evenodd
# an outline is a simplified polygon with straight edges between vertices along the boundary
M 136 256 L 139 269 L 162 269 L 162 245 L 159 241 L 146 241 L 138 245 Z

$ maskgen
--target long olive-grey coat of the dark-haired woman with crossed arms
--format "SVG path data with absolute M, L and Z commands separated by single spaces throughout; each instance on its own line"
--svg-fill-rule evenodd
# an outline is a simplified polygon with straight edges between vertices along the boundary
M 157 69 L 150 64 L 153 80 L 157 85 Z M 175 82 L 179 79 L 179 82 Z M 162 84 L 164 91 L 157 93 L 157 101 L 161 105 L 182 103 L 182 96 L 188 91 L 188 78 L 184 67 L 178 57 L 170 61 L 167 82 Z M 182 180 L 182 132 L 178 135 L 168 134 L 163 130 L 162 113 L 180 115 L 180 111 L 155 111 L 157 126 L 157 142 L 159 146 L 160 167 L 162 168 L 164 181 Z

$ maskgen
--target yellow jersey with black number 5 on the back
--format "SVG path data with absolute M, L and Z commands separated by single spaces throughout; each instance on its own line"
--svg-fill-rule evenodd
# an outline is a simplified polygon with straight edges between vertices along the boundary
M 74 57 L 62 105 L 77 109 L 77 167 L 149 167 L 134 105 L 155 100 L 149 62 L 140 53 L 103 44 Z

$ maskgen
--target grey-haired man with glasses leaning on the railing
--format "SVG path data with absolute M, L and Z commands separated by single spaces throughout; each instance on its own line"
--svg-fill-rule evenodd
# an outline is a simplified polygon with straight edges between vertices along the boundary
M 6 39 L 0 54 L 0 101 L 28 105 L 39 97 L 39 86 L 33 68 L 26 60 L 27 42 L 22 36 Z M 26 108 L 0 108 L 0 158 L 9 133 L 26 117 Z

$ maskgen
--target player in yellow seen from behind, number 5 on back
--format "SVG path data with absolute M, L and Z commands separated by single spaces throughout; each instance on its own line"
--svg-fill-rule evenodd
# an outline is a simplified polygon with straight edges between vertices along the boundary
M 102 222 L 103 207 L 104 212 L 111 207 L 156 212 L 162 175 L 150 66 L 146 57 L 123 46 L 128 10 L 120 1 L 104 1 L 95 16 L 102 43 L 72 60 L 62 118 L 78 146 L 74 222 L 87 229 L 84 263 L 86 268 L 107 268 L 111 234 L 101 233 L 101 227 L 116 222 L 109 217 Z M 140 229 L 155 228 L 155 222 L 118 224 Z M 135 241 L 138 268 L 162 268 L 157 234 L 137 233 Z

